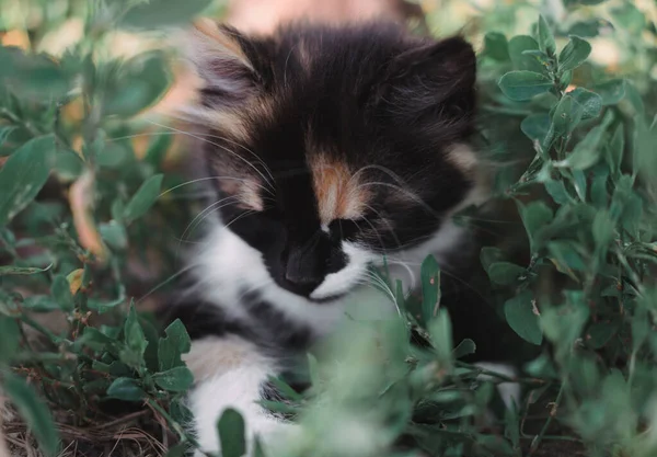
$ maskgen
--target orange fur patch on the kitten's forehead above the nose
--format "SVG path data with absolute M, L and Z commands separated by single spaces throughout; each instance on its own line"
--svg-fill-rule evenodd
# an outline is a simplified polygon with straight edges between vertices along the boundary
M 319 156 L 310 168 L 322 224 L 362 215 L 370 195 L 346 164 Z

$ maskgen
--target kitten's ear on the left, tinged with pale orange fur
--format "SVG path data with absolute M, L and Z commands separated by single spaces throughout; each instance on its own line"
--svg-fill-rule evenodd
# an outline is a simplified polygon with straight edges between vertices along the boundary
M 250 50 L 249 38 L 232 27 L 210 20 L 194 23 L 184 36 L 182 52 L 198 77 L 194 101 L 198 114 L 242 107 L 257 95 L 260 77 Z

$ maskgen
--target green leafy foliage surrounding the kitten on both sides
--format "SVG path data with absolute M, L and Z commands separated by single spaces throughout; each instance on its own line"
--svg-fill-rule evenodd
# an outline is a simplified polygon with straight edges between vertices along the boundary
M 198 208 L 172 171 L 171 132 L 147 113 L 171 83 L 171 56 L 151 46 L 118 57 L 112 34 L 152 37 L 210 2 L 46 3 L 26 7 L 28 50 L 0 47 L 0 382 L 47 455 L 60 448 L 50 411 L 82 427 L 116 402 L 148 409 L 182 455 L 196 445 L 184 429 L 191 340 L 180 321 L 160 331 L 147 309 L 166 295 Z M 472 365 L 487 341 L 452 341 L 433 256 L 422 296 L 378 272 L 377 299 L 394 300 L 396 316 L 348 320 L 309 355 L 308 391 L 272 379 L 285 399 L 263 404 L 301 432 L 283 449 L 256 443 L 255 455 L 657 455 L 657 11 L 496 3 L 469 33 L 483 49 L 481 149 L 499 164 L 487 206 L 515 219 L 481 251 L 483 297 L 537 351 L 509 354 L 522 361 L 517 376 Z M 453 28 L 438 10 L 428 23 Z M 71 16 L 83 18 L 79 41 L 37 54 Z M 4 28 L 22 26 L 12 18 L 3 12 Z M 610 42 L 618 61 L 600 58 Z M 37 319 L 53 311 L 64 328 Z M 496 387 L 510 381 L 522 396 L 505 405 Z M 223 455 L 244 455 L 245 427 L 222 412 Z

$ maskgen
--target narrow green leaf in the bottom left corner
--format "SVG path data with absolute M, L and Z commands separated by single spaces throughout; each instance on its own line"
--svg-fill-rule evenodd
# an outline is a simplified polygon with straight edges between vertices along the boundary
M 5 372 L 3 378 L 4 392 L 30 425 L 41 449 L 48 456 L 57 455 L 60 448 L 59 436 L 48 407 L 39 399 L 38 393 L 20 377 Z

